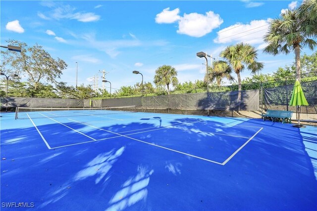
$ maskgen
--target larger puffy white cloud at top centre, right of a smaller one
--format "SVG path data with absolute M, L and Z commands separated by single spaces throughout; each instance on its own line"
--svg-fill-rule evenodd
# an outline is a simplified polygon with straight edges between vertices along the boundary
M 179 21 L 178 34 L 186 34 L 192 37 L 203 37 L 213 29 L 220 26 L 223 20 L 212 11 L 206 15 L 198 13 L 184 14 Z

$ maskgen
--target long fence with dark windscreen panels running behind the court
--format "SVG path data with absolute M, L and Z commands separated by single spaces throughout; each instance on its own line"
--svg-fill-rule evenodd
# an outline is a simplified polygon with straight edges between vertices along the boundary
M 56 99 L 56 98 L 0 98 L 1 108 L 14 107 L 113 107 L 137 106 L 143 112 L 164 112 L 180 114 L 239 116 L 241 111 L 256 115 L 246 117 L 261 118 L 267 109 L 293 111 L 292 120 L 317 123 L 317 72 L 302 74 L 301 86 L 309 106 L 289 106 L 295 84 L 295 76 L 275 79 L 261 83 L 210 87 L 209 92 L 201 89 L 174 90 L 172 94 L 144 93 L 138 97 L 92 99 Z M 205 92 L 204 92 L 205 91 Z

